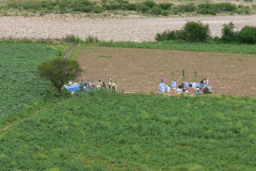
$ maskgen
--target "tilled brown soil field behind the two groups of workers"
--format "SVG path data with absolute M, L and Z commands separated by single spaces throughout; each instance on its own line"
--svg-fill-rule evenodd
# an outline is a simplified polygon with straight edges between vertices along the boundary
M 182 77 L 184 69 L 185 79 L 178 84 L 209 78 L 216 94 L 256 97 L 256 55 L 88 47 L 77 60 L 85 70 L 80 80 L 93 77 L 90 81 L 95 84 L 99 79 L 108 84 L 110 76 L 126 92 L 157 91 L 162 78 L 171 84 Z

